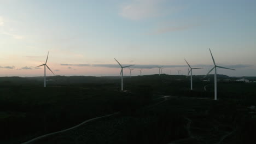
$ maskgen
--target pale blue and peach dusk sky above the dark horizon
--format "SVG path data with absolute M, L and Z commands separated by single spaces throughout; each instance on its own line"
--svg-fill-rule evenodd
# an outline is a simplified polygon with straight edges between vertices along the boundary
M 0 76 L 256 76 L 255 0 L 0 0 Z M 125 68 L 124 75 L 130 70 Z M 51 76 L 50 70 L 46 75 Z

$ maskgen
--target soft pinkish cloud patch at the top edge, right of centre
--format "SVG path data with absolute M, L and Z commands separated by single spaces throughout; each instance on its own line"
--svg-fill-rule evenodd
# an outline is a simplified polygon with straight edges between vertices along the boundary
M 159 15 L 162 0 L 132 0 L 121 7 L 119 15 L 131 19 L 140 20 Z

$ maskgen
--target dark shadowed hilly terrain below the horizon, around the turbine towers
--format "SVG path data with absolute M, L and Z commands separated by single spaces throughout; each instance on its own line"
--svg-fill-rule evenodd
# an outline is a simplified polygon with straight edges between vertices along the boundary
M 119 77 L 53 76 L 47 88 L 43 77 L 0 77 L 0 143 L 22 143 L 115 112 L 34 143 L 256 141 L 256 83 L 219 77 L 217 101 L 212 78 L 200 76 L 194 91 L 182 75 L 126 77 L 127 92 L 119 91 Z

